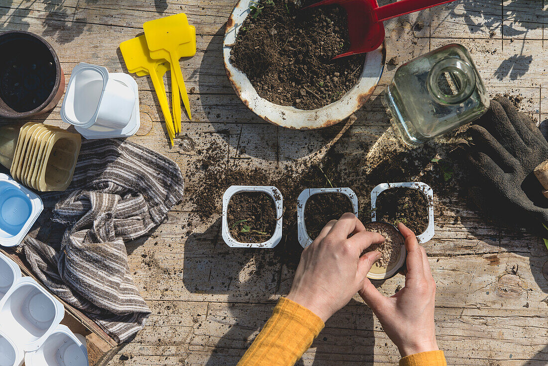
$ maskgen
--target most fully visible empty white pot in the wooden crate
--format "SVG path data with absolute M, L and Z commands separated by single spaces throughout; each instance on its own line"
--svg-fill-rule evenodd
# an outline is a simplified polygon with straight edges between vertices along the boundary
M 25 352 L 36 351 L 64 316 L 62 304 L 30 277 L 17 281 L 0 300 L 0 329 Z

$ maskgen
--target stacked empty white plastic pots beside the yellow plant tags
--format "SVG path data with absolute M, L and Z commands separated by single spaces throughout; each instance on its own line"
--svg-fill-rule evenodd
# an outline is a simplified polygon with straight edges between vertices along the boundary
M 68 81 L 61 119 L 87 139 L 132 136 L 140 127 L 137 83 L 123 72 L 79 63 Z

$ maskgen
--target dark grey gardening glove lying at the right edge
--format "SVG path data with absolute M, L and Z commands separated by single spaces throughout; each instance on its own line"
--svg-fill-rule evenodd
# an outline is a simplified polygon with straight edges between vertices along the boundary
M 548 238 L 548 199 L 533 174 L 548 159 L 548 143 L 533 121 L 504 97 L 491 101 L 486 114 L 469 129 L 467 155 L 479 173 L 492 211 Z

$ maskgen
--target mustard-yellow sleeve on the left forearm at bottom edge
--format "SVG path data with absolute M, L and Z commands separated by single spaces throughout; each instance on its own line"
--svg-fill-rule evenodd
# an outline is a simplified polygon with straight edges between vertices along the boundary
M 293 365 L 309 349 L 323 326 L 322 319 L 315 313 L 281 297 L 238 366 Z

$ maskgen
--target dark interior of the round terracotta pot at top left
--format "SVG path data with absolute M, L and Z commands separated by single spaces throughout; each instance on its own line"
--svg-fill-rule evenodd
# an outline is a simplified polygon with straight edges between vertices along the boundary
M 0 38 L 0 98 L 15 112 L 31 111 L 52 94 L 55 60 L 48 47 L 35 38 L 6 38 Z

